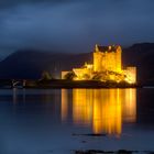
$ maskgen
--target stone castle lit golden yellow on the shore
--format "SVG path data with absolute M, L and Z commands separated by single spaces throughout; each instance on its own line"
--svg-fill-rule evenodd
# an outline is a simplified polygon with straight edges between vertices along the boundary
M 122 48 L 120 45 L 99 46 L 94 51 L 94 64 L 87 64 L 80 68 L 73 68 L 74 80 L 112 80 L 136 82 L 136 67 L 122 68 Z M 68 72 L 62 72 L 62 79 L 65 79 Z

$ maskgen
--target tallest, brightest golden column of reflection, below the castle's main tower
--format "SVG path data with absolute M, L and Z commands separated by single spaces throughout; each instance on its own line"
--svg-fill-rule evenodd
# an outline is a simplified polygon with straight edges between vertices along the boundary
M 121 133 L 121 99 L 119 91 L 95 91 L 92 127 L 95 133 Z M 100 101 L 101 100 L 101 101 Z

